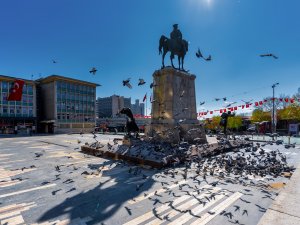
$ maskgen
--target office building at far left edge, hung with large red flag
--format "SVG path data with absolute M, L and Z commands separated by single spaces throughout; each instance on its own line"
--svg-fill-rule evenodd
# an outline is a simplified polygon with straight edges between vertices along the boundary
M 21 101 L 7 101 L 14 81 L 24 81 Z M 36 117 L 36 85 L 31 80 L 0 75 L 0 133 L 35 132 Z

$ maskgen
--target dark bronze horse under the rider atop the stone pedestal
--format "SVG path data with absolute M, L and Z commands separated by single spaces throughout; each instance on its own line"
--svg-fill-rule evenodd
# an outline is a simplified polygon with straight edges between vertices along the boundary
M 185 71 L 183 68 L 183 63 L 184 63 L 184 56 L 188 51 L 188 46 L 189 44 L 186 40 L 173 40 L 162 35 L 159 39 L 159 48 L 158 48 L 159 54 L 162 54 L 162 68 L 165 67 L 165 63 L 164 63 L 165 56 L 167 52 L 170 51 L 171 52 L 170 59 L 171 59 L 172 67 L 175 68 L 173 64 L 173 59 L 174 56 L 177 55 L 179 70 Z

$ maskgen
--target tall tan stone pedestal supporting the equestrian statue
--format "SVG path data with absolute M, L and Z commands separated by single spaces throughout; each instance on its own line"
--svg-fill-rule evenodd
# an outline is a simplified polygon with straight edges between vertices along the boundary
M 152 119 L 145 128 L 148 138 L 170 143 L 207 142 L 197 120 L 195 78 L 171 67 L 154 72 Z

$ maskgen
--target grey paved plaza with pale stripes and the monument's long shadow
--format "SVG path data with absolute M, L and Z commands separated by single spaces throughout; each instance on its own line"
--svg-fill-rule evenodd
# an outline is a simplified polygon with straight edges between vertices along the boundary
M 106 143 L 115 137 L 97 139 Z M 254 225 L 289 182 L 285 177 L 253 177 L 255 183 L 272 185 L 266 194 L 259 185 L 243 186 L 212 176 L 194 180 L 194 167 L 185 180 L 180 167 L 172 177 L 165 170 L 82 154 L 79 147 L 93 141 L 91 134 L 2 137 L 1 224 Z M 279 149 L 292 165 L 300 162 L 299 145 L 265 149 Z M 214 186 L 214 181 L 219 184 Z

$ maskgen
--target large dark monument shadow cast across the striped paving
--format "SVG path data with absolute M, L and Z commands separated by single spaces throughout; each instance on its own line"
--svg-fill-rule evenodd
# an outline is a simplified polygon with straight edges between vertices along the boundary
M 105 164 L 114 162 L 107 161 L 101 165 L 105 166 Z M 88 165 L 88 168 L 97 168 L 97 165 Z M 133 168 L 132 165 L 131 167 Z M 61 204 L 45 212 L 38 222 L 54 221 L 67 215 L 71 221 L 79 217 L 91 217 L 92 221 L 88 224 L 101 224 L 102 222 L 104 224 L 105 220 L 111 218 L 123 207 L 123 204 L 149 190 L 155 182 L 152 178 L 155 174 L 154 170 L 145 170 L 134 166 L 129 173 L 129 168 L 130 165 L 117 165 L 104 171 L 99 185 L 66 198 Z M 146 179 L 144 174 L 147 174 Z M 138 190 L 137 185 L 141 186 Z M 126 210 L 124 211 L 126 212 Z M 129 215 L 127 214 L 127 216 Z

